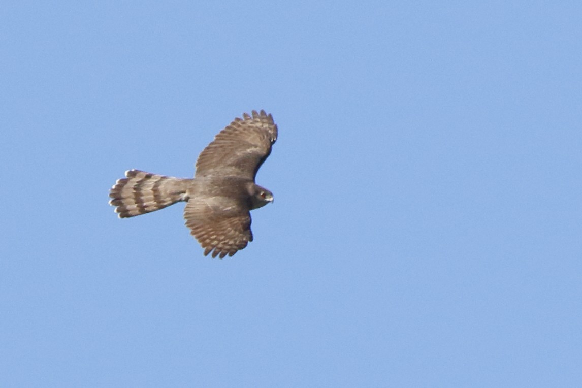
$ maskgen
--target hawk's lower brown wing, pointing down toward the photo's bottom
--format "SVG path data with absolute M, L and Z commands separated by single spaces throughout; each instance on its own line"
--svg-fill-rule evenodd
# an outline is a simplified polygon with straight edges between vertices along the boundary
M 184 209 L 186 226 L 212 258 L 232 256 L 253 241 L 249 208 L 230 197 L 197 196 Z

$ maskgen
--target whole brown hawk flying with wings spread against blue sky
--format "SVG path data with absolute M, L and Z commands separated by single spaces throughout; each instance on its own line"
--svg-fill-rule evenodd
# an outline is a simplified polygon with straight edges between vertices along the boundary
M 244 113 L 200 153 L 193 179 L 129 170 L 111 188 L 109 204 L 128 218 L 185 201 L 186 226 L 204 255 L 232 256 L 253 241 L 250 211 L 273 202 L 255 176 L 276 140 L 271 115 Z

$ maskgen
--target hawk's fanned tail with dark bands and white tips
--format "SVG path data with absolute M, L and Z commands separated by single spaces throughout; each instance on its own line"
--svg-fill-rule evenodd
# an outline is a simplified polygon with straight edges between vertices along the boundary
M 110 205 L 119 218 L 137 216 L 163 209 L 178 201 L 187 201 L 191 179 L 151 174 L 140 170 L 125 172 L 109 191 Z

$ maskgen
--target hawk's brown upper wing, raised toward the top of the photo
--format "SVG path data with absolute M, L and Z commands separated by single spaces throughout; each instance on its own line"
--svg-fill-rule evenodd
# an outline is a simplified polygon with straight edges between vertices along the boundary
M 271 154 L 277 126 L 265 111 L 243 114 L 220 131 L 198 156 L 196 176 L 237 176 L 254 180 Z

